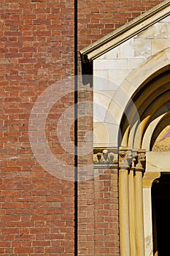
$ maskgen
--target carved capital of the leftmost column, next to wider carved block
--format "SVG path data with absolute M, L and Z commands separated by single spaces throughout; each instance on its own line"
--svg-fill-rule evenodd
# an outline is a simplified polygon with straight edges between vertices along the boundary
M 131 167 L 132 154 L 129 149 L 120 149 L 119 167 L 120 169 L 129 169 Z

